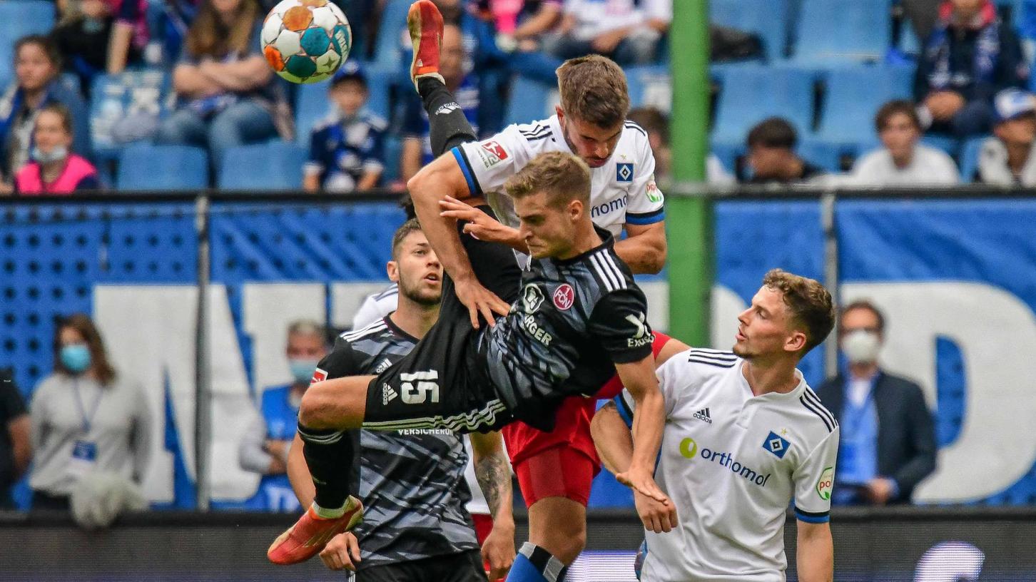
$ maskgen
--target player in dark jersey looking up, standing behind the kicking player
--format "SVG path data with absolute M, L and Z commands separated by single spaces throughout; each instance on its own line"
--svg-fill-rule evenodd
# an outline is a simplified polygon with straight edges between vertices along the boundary
M 399 361 L 438 316 L 442 267 L 416 221 L 393 238 L 388 278 L 399 284 L 399 305 L 365 328 L 343 333 L 317 367 L 314 380 L 376 374 Z M 469 435 L 479 486 L 493 516 L 482 554 L 501 576 L 515 556 L 511 474 L 499 433 Z M 355 570 L 357 582 L 485 581 L 471 518 L 465 510 L 467 455 L 462 435 L 445 430 L 350 431 L 358 447 L 350 490 L 365 505 L 364 521 L 338 535 L 320 553 L 333 570 Z M 289 476 L 299 502 L 313 502 L 314 488 L 296 438 Z

